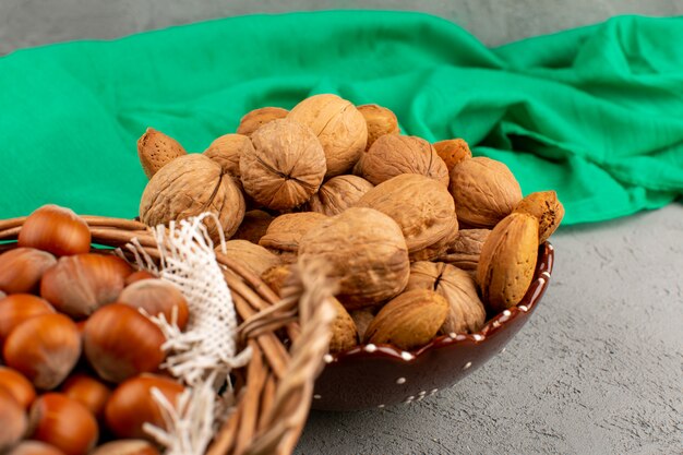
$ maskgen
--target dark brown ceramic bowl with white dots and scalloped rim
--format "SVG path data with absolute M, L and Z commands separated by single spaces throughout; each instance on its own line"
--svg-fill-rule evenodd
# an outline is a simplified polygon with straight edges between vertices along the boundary
M 527 322 L 550 282 L 553 248 L 539 248 L 531 286 L 519 304 L 491 318 L 476 334 L 440 336 L 402 351 L 388 345 L 361 345 L 327 355 L 315 382 L 313 408 L 359 410 L 410 403 L 448 387 L 500 352 Z

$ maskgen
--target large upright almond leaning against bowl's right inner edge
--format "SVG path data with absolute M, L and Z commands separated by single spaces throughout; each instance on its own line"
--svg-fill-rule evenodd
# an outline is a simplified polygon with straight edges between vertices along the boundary
M 538 256 L 538 219 L 512 213 L 489 235 L 477 266 L 481 297 L 492 313 L 515 307 L 526 294 Z

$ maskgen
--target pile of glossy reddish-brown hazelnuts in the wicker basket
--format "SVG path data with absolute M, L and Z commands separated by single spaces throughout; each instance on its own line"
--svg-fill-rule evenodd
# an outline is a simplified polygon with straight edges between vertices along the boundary
M 0 454 L 159 454 L 143 430 L 164 428 L 152 390 L 173 404 L 183 386 L 149 316 L 184 330 L 188 303 L 91 243 L 84 219 L 46 205 L 0 254 Z

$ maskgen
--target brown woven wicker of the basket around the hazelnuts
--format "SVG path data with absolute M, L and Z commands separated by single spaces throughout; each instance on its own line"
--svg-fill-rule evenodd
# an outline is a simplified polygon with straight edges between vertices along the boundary
M 83 217 L 93 243 L 123 247 L 133 238 L 154 259 L 147 226 L 132 220 Z M 26 218 L 0 220 L 0 252 L 15 248 Z M 256 275 L 217 254 L 240 319 L 242 346 L 253 349 L 249 364 L 235 370 L 237 405 L 215 435 L 207 455 L 290 454 L 311 405 L 313 382 L 327 351 L 334 310 L 331 288 L 320 273 L 297 271 L 279 299 Z

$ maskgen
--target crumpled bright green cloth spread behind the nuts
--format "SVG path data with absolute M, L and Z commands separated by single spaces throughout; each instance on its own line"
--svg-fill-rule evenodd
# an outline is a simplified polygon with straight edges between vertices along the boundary
M 404 132 L 464 137 L 566 224 L 683 192 L 683 19 L 603 24 L 488 49 L 419 13 L 226 19 L 0 59 L 0 218 L 55 202 L 133 217 L 152 125 L 201 152 L 247 111 L 315 93 L 393 109 Z

